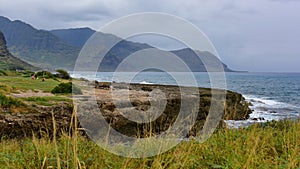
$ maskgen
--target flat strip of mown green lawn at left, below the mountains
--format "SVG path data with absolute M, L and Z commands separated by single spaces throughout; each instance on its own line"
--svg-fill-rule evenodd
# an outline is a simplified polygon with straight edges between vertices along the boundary
M 32 80 L 30 77 L 20 76 L 1 76 L 0 85 L 10 86 L 18 90 L 41 90 L 43 92 L 50 92 L 60 82 L 53 79 L 46 79 L 42 82 L 41 79 Z

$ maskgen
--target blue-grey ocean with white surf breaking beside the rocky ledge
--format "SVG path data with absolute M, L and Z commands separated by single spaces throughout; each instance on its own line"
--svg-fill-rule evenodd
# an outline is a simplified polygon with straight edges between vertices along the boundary
M 251 102 L 253 112 L 247 120 L 226 121 L 229 127 L 247 127 L 253 123 L 263 123 L 272 120 L 296 119 L 300 117 L 300 73 L 225 73 L 226 85 L 215 85 L 210 76 L 204 72 L 194 73 L 197 83 L 187 78 L 187 73 L 141 72 L 73 72 L 75 78 L 85 78 L 105 82 L 128 82 L 141 84 L 164 84 L 224 88 L 241 93 Z M 175 76 L 172 76 L 175 75 Z M 132 78 L 133 76 L 133 78 Z M 214 76 L 217 77 L 217 76 Z M 223 80 L 220 80 L 223 82 Z M 193 85 L 191 85 L 193 84 Z M 214 84 L 214 85 L 212 85 Z M 221 87 L 220 87 L 221 86 Z

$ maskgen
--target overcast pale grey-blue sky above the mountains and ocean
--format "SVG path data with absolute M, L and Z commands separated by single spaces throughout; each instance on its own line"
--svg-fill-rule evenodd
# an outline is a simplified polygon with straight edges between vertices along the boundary
M 0 0 L 0 4 L 0 15 L 45 30 L 99 30 L 125 15 L 164 12 L 202 30 L 232 69 L 300 72 L 300 0 Z M 178 47 L 158 37 L 147 42 Z

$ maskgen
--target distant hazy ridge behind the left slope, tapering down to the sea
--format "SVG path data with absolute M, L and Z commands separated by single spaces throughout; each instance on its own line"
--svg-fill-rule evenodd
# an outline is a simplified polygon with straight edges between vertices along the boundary
M 52 30 L 51 32 L 59 38 L 63 39 L 65 42 L 82 47 L 87 41 L 87 39 L 96 31 L 91 30 L 90 28 L 77 28 Z M 120 38 L 114 35 L 104 34 L 101 32 L 98 32 L 98 34 L 100 35 L 99 37 L 103 38 L 101 39 L 101 42 L 103 42 L 103 44 L 100 45 L 100 47 L 103 49 L 107 49 L 107 41 L 120 41 Z M 106 56 L 103 59 L 103 62 L 100 65 L 99 71 L 113 71 L 122 62 L 122 60 L 130 54 L 148 48 L 154 47 L 144 43 L 121 40 L 109 51 L 108 54 L 106 54 Z M 199 57 L 201 59 L 209 60 L 209 67 L 216 67 L 216 65 L 220 63 L 220 60 L 209 52 L 193 51 L 189 48 L 170 52 L 174 53 L 183 61 L 185 61 L 187 65 L 191 68 L 191 70 L 195 72 L 206 71 L 206 67 L 204 66 L 203 62 L 199 59 Z M 165 52 L 165 55 L 167 55 L 167 52 Z M 85 64 L 92 64 L 93 62 L 95 61 L 87 60 Z M 223 67 L 225 71 L 232 72 L 232 70 L 229 69 L 227 65 L 223 64 Z

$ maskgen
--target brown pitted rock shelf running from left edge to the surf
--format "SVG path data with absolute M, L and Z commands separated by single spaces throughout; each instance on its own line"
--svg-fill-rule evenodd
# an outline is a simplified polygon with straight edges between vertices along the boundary
M 166 131 L 174 124 L 176 119 L 178 119 L 182 101 L 187 103 L 187 109 L 189 108 L 189 105 L 193 107 L 193 100 L 196 95 L 195 93 L 190 92 L 191 88 L 184 88 L 184 91 L 180 91 L 177 86 L 131 84 L 131 90 L 129 92 L 130 104 L 128 104 L 125 102 L 124 96 L 124 92 L 128 87 L 126 87 L 125 84 L 120 84 L 118 85 L 118 88 L 114 89 L 119 92 L 118 98 L 115 100 L 117 105 L 115 105 L 111 96 L 110 84 L 95 83 L 95 86 L 97 107 L 89 105 L 88 97 L 83 96 L 82 98 L 85 98 L 83 99 L 85 104 L 78 107 L 79 113 L 77 114 L 80 124 L 85 128 L 89 135 L 93 136 L 107 134 L 99 133 L 95 130 L 97 128 L 105 127 L 105 125 L 103 125 L 104 122 L 110 124 L 110 127 L 117 132 L 130 137 L 147 137 L 149 134 L 160 134 Z M 165 98 L 157 97 L 154 100 L 151 100 L 151 92 L 155 90 L 164 93 Z M 187 130 L 189 127 L 180 130 L 186 132 L 187 135 L 195 136 L 199 134 L 207 118 L 210 118 L 211 120 L 219 118 L 208 117 L 211 109 L 210 105 L 212 103 L 211 96 L 213 91 L 217 96 L 215 99 L 221 99 L 221 93 L 224 91 L 206 88 L 199 88 L 198 91 L 200 94 L 200 102 L 197 103 L 199 105 L 199 110 L 195 110 L 198 112 L 197 116 L 190 117 L 189 114 L 183 115 L 184 118 L 195 118 L 196 120 L 195 124 L 191 126 L 191 130 Z M 84 93 L 87 94 L 87 92 Z M 76 99 L 80 100 L 78 97 Z M 166 103 L 166 106 L 165 109 L 161 111 L 161 114 L 150 123 L 136 123 L 124 117 L 124 115 L 128 115 L 127 113 L 135 111 L 142 111 L 144 114 L 142 113 L 141 116 L 146 116 L 147 111 L 151 109 L 151 103 Z M 218 106 L 220 107 L 221 105 L 214 105 L 212 106 L 212 109 L 218 110 Z M 101 112 L 99 112 L 99 108 Z M 73 107 L 71 105 L 61 104 L 51 107 L 38 106 L 32 109 L 34 110 L 32 113 L 29 112 L 26 114 L 0 114 L 0 136 L 24 137 L 31 136 L 32 133 L 40 136 L 46 133 L 51 136 L 53 132 L 51 112 L 53 112 L 55 117 L 57 131 L 69 131 L 73 114 Z M 155 107 L 153 107 L 153 110 L 156 110 Z M 157 109 L 156 111 L 158 113 L 160 110 Z M 227 120 L 246 119 L 251 113 L 248 103 L 245 102 L 242 95 L 231 91 L 226 92 L 225 106 L 221 111 L 223 112 L 221 112 L 220 115 L 223 119 Z M 101 118 L 100 115 L 103 116 L 104 119 Z M 188 126 L 189 124 L 186 125 Z

